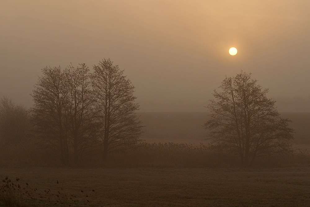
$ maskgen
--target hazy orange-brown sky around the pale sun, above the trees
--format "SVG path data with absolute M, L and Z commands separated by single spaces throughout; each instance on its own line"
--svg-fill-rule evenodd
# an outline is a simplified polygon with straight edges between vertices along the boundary
M 102 58 L 125 70 L 141 111 L 206 111 L 240 70 L 279 110 L 310 111 L 310 1 L 0 0 L 1 96 L 30 107 L 41 68 Z

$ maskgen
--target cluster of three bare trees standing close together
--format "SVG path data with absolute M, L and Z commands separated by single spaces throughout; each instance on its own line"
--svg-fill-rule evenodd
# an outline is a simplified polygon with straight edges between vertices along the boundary
M 59 155 L 62 164 L 74 164 L 91 150 L 108 153 L 135 144 L 141 124 L 135 111 L 134 86 L 110 59 L 89 72 L 85 64 L 45 67 L 34 86 L 30 109 L 36 136 Z M 71 156 L 73 155 L 73 156 Z

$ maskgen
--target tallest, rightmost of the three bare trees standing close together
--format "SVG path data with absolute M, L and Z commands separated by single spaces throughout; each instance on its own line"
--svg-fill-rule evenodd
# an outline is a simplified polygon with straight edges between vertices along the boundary
M 94 66 L 92 87 L 101 124 L 103 160 L 111 151 L 132 146 L 141 135 L 141 122 L 135 114 L 139 110 L 139 105 L 134 102 L 135 87 L 123 72 L 110 59 Z

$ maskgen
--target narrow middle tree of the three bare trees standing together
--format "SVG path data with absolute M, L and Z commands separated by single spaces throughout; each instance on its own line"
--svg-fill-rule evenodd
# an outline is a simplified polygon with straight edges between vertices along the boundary
M 95 99 L 90 88 L 89 69 L 85 64 L 68 66 L 69 81 L 69 131 L 72 137 L 74 163 L 94 144 L 96 135 Z

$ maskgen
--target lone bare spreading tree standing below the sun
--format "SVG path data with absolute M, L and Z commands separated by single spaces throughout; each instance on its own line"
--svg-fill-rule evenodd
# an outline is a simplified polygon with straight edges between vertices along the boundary
M 268 99 L 251 74 L 241 71 L 226 77 L 222 92 L 214 90 L 215 100 L 206 107 L 212 112 L 204 127 L 210 130 L 210 147 L 240 157 L 243 166 L 250 166 L 257 156 L 286 154 L 293 139 L 290 120 L 280 117 L 275 101 Z

